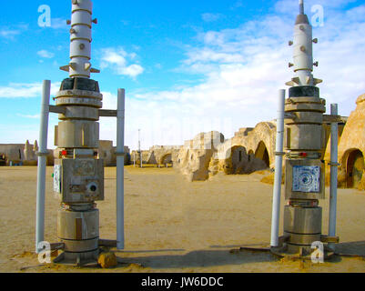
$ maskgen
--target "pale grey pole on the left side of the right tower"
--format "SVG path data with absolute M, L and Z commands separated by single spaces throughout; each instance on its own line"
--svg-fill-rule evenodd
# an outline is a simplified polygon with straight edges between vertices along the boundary
M 279 246 L 279 218 L 280 218 L 280 196 L 281 196 L 281 176 L 282 157 L 284 140 L 284 110 L 285 110 L 285 90 L 279 90 L 279 107 L 277 120 L 277 141 L 275 153 L 275 181 L 272 201 L 271 218 L 271 243 L 270 246 Z

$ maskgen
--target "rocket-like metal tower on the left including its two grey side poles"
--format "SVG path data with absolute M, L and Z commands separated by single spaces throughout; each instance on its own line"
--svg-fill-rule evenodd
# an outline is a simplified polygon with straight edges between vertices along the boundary
M 68 72 L 49 105 L 50 82 L 44 83 L 41 138 L 37 183 L 36 251 L 44 240 L 46 133 L 49 112 L 57 113 L 54 190 L 61 206 L 57 213 L 59 243 L 52 250 L 62 250 L 56 263 L 78 266 L 95 263 L 99 246 L 124 248 L 124 119 L 125 90 L 118 90 L 117 110 L 103 110 L 103 95 L 91 73 L 99 73 L 91 65 L 92 18 L 91 0 L 72 0 L 70 28 L 70 62 L 60 69 Z M 99 118 L 117 117 L 117 240 L 99 238 L 99 210 L 96 201 L 104 200 L 104 163 L 98 155 Z

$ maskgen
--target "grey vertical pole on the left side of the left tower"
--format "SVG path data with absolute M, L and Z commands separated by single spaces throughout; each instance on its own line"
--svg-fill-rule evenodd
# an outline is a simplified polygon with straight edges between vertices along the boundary
M 46 200 L 46 156 L 48 139 L 49 99 L 51 96 L 51 81 L 43 81 L 41 123 L 39 129 L 38 169 L 36 177 L 36 221 L 35 221 L 35 252 L 41 249 L 39 243 L 45 240 L 45 200 Z

